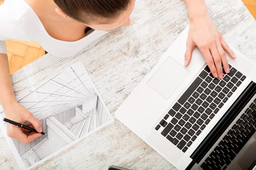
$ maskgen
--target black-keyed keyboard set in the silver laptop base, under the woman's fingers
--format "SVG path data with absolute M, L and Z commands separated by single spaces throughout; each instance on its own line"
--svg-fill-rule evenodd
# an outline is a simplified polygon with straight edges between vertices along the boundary
M 230 73 L 222 80 L 214 78 L 208 66 L 192 82 L 172 109 L 155 127 L 161 134 L 184 153 L 200 135 L 211 119 L 223 107 L 246 76 L 231 65 Z M 166 120 L 172 116 L 170 122 Z

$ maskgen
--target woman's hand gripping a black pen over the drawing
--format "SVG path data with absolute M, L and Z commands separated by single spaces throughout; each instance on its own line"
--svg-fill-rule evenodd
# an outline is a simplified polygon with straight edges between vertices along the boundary
M 7 119 L 13 120 L 18 123 L 30 122 L 30 127 L 35 128 L 40 133 L 30 132 L 20 127 L 16 127 L 11 124 L 7 124 L 7 135 L 11 138 L 17 139 L 18 141 L 29 144 L 39 136 L 41 136 L 42 127 L 41 122 L 33 116 L 24 106 L 20 105 L 17 101 L 11 102 L 8 105 L 3 106 Z M 27 136 L 26 132 L 30 132 Z

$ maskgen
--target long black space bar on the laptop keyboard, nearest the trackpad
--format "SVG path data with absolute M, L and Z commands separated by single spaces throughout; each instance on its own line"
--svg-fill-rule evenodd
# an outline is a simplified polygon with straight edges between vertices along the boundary
M 191 94 L 195 91 L 196 88 L 201 84 L 203 80 L 199 77 L 197 77 L 194 82 L 189 86 L 189 88 L 183 93 L 183 95 L 178 99 L 178 102 L 183 105 L 186 100 L 191 96 Z

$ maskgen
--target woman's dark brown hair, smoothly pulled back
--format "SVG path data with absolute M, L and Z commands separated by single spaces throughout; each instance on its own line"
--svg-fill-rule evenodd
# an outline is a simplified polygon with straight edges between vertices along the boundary
M 67 16 L 82 23 L 114 19 L 128 8 L 131 0 L 54 0 Z M 105 21 L 106 22 L 106 21 Z

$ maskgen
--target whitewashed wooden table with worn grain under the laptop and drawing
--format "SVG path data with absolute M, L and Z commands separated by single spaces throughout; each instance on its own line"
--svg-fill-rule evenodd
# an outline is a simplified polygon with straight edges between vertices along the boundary
M 114 116 L 189 24 L 183 0 L 137 0 L 136 3 L 130 27 L 101 37 L 74 57 L 47 54 L 13 74 L 15 94 L 81 60 Z M 206 4 L 225 40 L 256 62 L 256 21 L 241 0 L 206 0 Z M 0 170 L 18 169 L 1 132 L 0 155 Z M 110 165 L 131 170 L 176 169 L 118 120 L 35 169 L 107 170 Z

